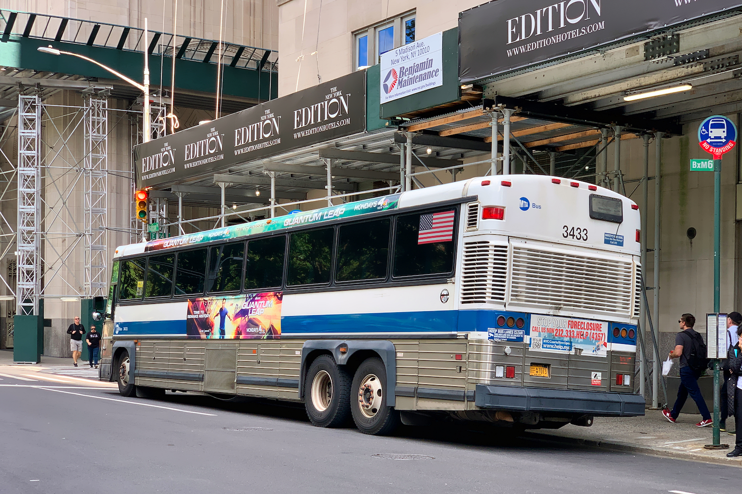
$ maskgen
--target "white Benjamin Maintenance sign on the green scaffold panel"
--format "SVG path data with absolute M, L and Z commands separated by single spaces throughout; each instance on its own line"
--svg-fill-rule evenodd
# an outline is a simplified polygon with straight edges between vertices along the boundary
M 443 85 L 443 33 L 381 55 L 381 103 Z

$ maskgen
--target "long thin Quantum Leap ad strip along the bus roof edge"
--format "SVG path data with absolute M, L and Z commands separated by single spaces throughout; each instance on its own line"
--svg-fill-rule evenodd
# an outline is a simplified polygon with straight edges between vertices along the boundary
M 278 216 L 278 218 L 266 218 L 249 223 L 237 224 L 230 227 L 217 228 L 208 232 L 189 233 L 171 238 L 160 238 L 148 241 L 144 247 L 145 252 L 153 250 L 171 249 L 173 247 L 185 247 L 188 245 L 203 244 L 215 240 L 229 240 L 257 233 L 274 232 L 300 224 L 316 224 L 324 221 L 332 221 L 338 218 L 350 218 L 376 211 L 393 210 L 399 204 L 401 194 L 390 194 L 368 199 L 367 201 L 355 201 L 338 206 L 323 207 L 302 213 Z

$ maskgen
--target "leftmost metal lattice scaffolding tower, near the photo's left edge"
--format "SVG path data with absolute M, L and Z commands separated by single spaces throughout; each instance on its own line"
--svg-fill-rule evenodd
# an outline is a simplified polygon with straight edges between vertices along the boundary
M 39 314 L 41 295 L 41 120 L 38 95 L 18 99 L 18 238 L 16 304 L 19 314 Z

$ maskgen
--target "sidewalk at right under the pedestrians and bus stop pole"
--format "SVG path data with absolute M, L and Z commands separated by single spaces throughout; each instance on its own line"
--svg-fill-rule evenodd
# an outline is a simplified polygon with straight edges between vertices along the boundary
M 703 448 L 704 444 L 712 444 L 713 429 L 695 427 L 700 419 L 700 415 L 682 413 L 677 423 L 671 424 L 661 410 L 647 410 L 643 417 L 596 417 L 592 427 L 567 424 L 558 430 L 537 430 L 528 435 L 547 441 L 742 467 L 742 457 L 726 457 L 735 447 L 734 435 L 721 433 L 720 442 L 729 444 L 727 450 Z M 728 419 L 727 424 L 734 429 L 733 418 Z

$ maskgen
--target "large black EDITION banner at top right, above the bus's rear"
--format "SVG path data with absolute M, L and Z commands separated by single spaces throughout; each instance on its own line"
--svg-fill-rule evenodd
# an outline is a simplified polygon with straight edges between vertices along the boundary
M 740 0 L 493 0 L 459 14 L 459 77 L 484 79 L 741 6 Z

